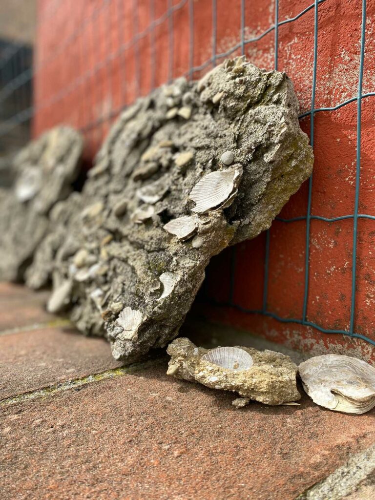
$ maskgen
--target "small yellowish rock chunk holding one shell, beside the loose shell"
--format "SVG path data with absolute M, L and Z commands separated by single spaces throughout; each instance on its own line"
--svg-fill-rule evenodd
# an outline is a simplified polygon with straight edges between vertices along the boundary
M 231 365 L 225 362 L 225 356 L 217 355 L 218 350 L 244 351 L 252 361 L 241 365 L 238 354 L 230 354 L 234 361 Z M 300 399 L 295 379 L 298 367 L 289 356 L 280 352 L 242 346 L 207 350 L 196 347 L 184 337 L 173 340 L 166 351 L 171 356 L 167 375 L 198 382 L 211 389 L 237 392 L 241 398 L 232 401 L 236 408 L 245 406 L 250 399 L 265 404 Z

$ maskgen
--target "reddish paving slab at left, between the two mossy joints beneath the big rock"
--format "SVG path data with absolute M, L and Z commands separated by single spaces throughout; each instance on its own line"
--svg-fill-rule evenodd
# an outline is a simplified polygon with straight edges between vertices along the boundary
M 73 329 L 0 335 L 0 399 L 120 365 L 103 338 Z

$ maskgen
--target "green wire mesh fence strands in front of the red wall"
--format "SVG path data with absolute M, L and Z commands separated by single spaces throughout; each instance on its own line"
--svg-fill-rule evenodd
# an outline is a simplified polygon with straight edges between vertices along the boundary
M 53 4 L 53 9 L 50 9 L 51 12 L 48 13 L 49 17 L 52 17 L 55 11 L 58 8 L 58 2 L 56 1 Z M 108 8 L 109 3 L 113 0 L 102 0 L 102 2 L 95 7 L 91 16 L 84 19 L 83 23 L 78 26 L 78 28 L 69 36 L 67 40 L 61 43 L 58 47 L 58 52 L 61 53 L 67 46 L 67 44 L 74 41 L 82 31 L 84 25 L 88 23 L 92 23 L 92 21 L 101 13 L 104 8 Z M 303 306 L 302 306 L 302 315 L 301 318 L 285 318 L 280 317 L 272 311 L 267 309 L 267 295 L 268 295 L 268 278 L 269 278 L 269 247 L 270 247 L 270 237 L 269 231 L 266 233 L 266 242 L 265 242 L 265 256 L 264 256 L 264 278 L 263 278 L 263 296 L 262 296 L 262 307 L 261 309 L 247 309 L 242 307 L 241 305 L 235 303 L 233 301 L 233 291 L 234 291 L 234 268 L 236 261 L 236 248 L 232 249 L 231 256 L 231 283 L 230 283 L 230 292 L 229 292 L 229 300 L 226 302 L 221 302 L 223 305 L 227 305 L 230 307 L 234 307 L 246 313 L 259 313 L 265 316 L 272 317 L 278 321 L 286 322 L 286 323 L 298 323 L 305 326 L 311 326 L 322 333 L 337 333 L 343 335 L 349 335 L 350 337 L 361 338 L 372 345 L 375 345 L 375 341 L 361 335 L 354 331 L 354 319 L 355 319 L 355 283 L 356 283 L 356 248 L 357 248 L 357 229 L 358 229 L 358 218 L 368 218 L 375 219 L 375 216 L 360 214 L 358 213 L 358 203 L 359 203 L 359 180 L 360 180 L 360 138 L 361 138 L 361 101 L 363 98 L 367 98 L 370 96 L 375 96 L 375 92 L 367 92 L 362 93 L 362 79 L 363 79 L 363 61 L 364 61 L 364 46 L 365 46 L 365 25 L 366 25 L 366 0 L 362 0 L 362 18 L 361 18 L 361 39 L 360 39 L 360 62 L 359 62 L 359 74 L 358 74 L 358 91 L 355 97 L 351 97 L 350 99 L 345 100 L 344 102 L 338 103 L 335 106 L 331 107 L 319 107 L 315 108 L 315 90 L 316 90 L 316 65 L 317 65 L 317 46 L 318 46 L 318 8 L 319 6 L 327 0 L 314 0 L 313 3 L 308 5 L 306 8 L 301 10 L 294 17 L 279 20 L 279 0 L 274 0 L 274 24 L 269 26 L 260 34 L 246 38 L 245 37 L 245 10 L 246 10 L 246 1 L 241 0 L 240 5 L 240 40 L 238 43 L 231 46 L 228 50 L 224 52 L 216 52 L 216 41 L 217 41 L 217 25 L 216 25 L 216 0 L 212 0 L 212 54 L 211 56 L 204 61 L 204 63 L 194 66 L 193 65 L 193 54 L 194 54 L 194 0 L 181 0 L 178 3 L 172 4 L 171 0 L 168 0 L 168 6 L 165 12 L 158 18 L 155 18 L 155 6 L 154 1 L 150 0 L 150 24 L 142 31 L 138 30 L 139 20 L 137 18 L 137 9 L 134 8 L 134 18 L 133 26 L 134 26 L 134 36 L 128 41 L 123 43 L 119 49 L 115 52 L 108 53 L 106 57 L 99 61 L 95 67 L 87 71 L 85 74 L 80 75 L 76 79 L 74 79 L 66 88 L 59 91 L 55 95 L 53 95 L 50 99 L 41 102 L 37 106 L 29 106 L 25 109 L 22 109 L 20 112 L 14 114 L 9 119 L 0 123 L 0 137 L 5 137 L 9 131 L 17 126 L 17 124 L 28 121 L 32 118 L 35 112 L 38 112 L 40 109 L 45 106 L 50 106 L 52 104 L 56 104 L 60 102 L 67 94 L 73 92 L 79 85 L 84 83 L 86 80 L 92 77 L 97 71 L 101 70 L 103 67 L 107 68 L 108 77 L 110 77 L 110 64 L 111 61 L 116 57 L 121 57 L 121 71 L 123 81 L 126 81 L 126 67 L 125 61 L 123 57 L 123 53 L 125 50 L 133 47 L 135 52 L 139 51 L 139 41 L 147 35 L 151 36 L 151 40 L 155 39 L 155 28 L 162 24 L 164 21 L 168 23 L 168 79 L 171 80 L 173 76 L 173 13 L 181 9 L 187 4 L 187 15 L 188 15 L 188 25 L 189 25 L 189 68 L 184 73 L 184 76 L 188 78 L 193 78 L 195 73 L 198 71 L 202 71 L 210 66 L 214 66 L 217 60 L 222 59 L 224 57 L 230 56 L 234 52 L 238 53 L 240 51 L 242 54 L 245 53 L 247 45 L 256 42 L 263 38 L 270 32 L 274 32 L 274 68 L 278 67 L 278 32 L 279 27 L 294 22 L 301 16 L 305 15 L 306 12 L 313 9 L 314 11 L 314 43 L 313 43 L 313 72 L 312 72 L 312 92 L 311 92 L 311 107 L 308 111 L 300 114 L 299 118 L 302 119 L 306 116 L 310 118 L 310 143 L 314 145 L 314 116 L 316 113 L 320 112 L 329 112 L 339 109 L 350 102 L 356 101 L 357 104 L 357 123 L 356 123 L 356 170 L 355 170 L 355 200 L 354 200 L 354 213 L 348 215 L 342 215 L 338 217 L 326 218 L 319 215 L 314 215 L 311 213 L 311 194 L 312 194 L 312 182 L 313 177 L 311 176 L 308 181 L 308 198 L 307 198 L 307 207 L 306 207 L 306 215 L 293 217 L 293 218 L 282 218 L 277 217 L 277 220 L 285 223 L 292 223 L 298 220 L 306 221 L 306 234 L 305 234 L 305 271 L 304 271 L 304 293 L 303 293 Z M 135 2 L 136 3 L 136 2 Z M 119 15 L 118 22 L 122 23 L 123 19 L 121 15 Z M 2 86 L 0 90 L 0 106 L 9 98 L 14 95 L 17 89 L 21 88 L 23 85 L 30 82 L 33 78 L 35 71 L 41 69 L 41 67 L 50 62 L 50 59 L 45 60 L 42 63 L 42 66 L 34 67 L 33 70 L 27 69 L 20 74 L 14 73 L 14 65 L 12 64 L 12 58 L 16 56 L 17 51 L 13 49 L 6 51 L 6 53 L 2 53 L 0 55 L 0 84 Z M 55 57 L 56 53 L 51 54 L 51 58 Z M 154 52 L 154 43 L 151 43 L 151 86 L 154 87 L 155 84 L 155 52 Z M 10 68 L 10 77 L 9 77 L 9 68 Z M 4 79 L 5 77 L 5 79 Z M 135 67 L 135 77 L 137 81 L 136 88 L 139 89 L 139 61 Z M 7 79 L 6 79 L 7 78 Z M 121 106 L 115 109 L 111 109 L 107 115 L 100 117 L 99 119 L 92 121 L 84 126 L 82 129 L 83 132 L 90 130 L 98 126 L 101 122 L 107 121 L 113 116 L 116 116 L 125 106 L 125 96 L 123 95 L 123 102 Z M 308 291 L 309 291 L 309 245 L 310 245 L 310 223 L 311 220 L 322 220 L 325 222 L 335 222 L 338 220 L 344 219 L 353 219 L 353 252 L 352 252 L 352 278 L 351 278 L 351 306 L 350 306 L 350 323 L 348 330 L 339 330 L 339 329 L 329 329 L 323 328 L 317 323 L 311 322 L 307 319 L 307 304 L 308 304 Z

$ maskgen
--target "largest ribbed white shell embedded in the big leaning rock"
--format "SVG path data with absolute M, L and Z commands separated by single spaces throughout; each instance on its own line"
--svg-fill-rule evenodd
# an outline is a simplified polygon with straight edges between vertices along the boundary
M 191 189 L 190 199 L 195 201 L 193 212 L 203 213 L 223 203 L 237 187 L 242 168 L 228 168 L 204 175 Z

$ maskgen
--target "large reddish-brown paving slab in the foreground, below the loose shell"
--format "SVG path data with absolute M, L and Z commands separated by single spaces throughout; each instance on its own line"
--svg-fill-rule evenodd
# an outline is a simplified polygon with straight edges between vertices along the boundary
M 4 500 L 293 500 L 375 442 L 374 412 L 252 403 L 157 364 L 2 408 Z

